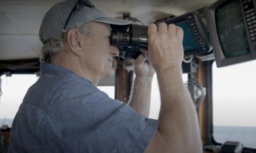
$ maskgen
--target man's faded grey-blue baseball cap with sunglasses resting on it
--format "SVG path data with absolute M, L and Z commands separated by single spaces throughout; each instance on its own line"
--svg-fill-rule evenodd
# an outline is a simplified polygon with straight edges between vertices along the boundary
M 59 35 L 64 30 L 65 23 L 78 0 L 66 0 L 53 5 L 44 15 L 39 30 L 41 42 L 44 44 L 49 39 Z M 86 0 L 88 1 L 88 0 Z M 75 27 L 89 21 L 97 21 L 114 25 L 128 25 L 132 21 L 106 17 L 106 15 L 96 7 L 83 6 L 74 14 L 68 23 L 68 27 Z

